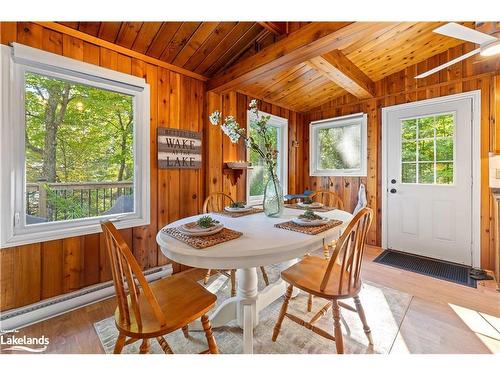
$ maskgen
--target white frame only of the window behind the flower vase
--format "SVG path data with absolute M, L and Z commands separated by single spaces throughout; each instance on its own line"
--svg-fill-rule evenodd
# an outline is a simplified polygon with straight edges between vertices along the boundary
M 288 119 L 259 111 L 259 116 L 270 116 L 268 126 L 278 129 L 278 178 L 283 188 L 283 195 L 288 194 Z M 247 111 L 247 129 L 250 121 L 255 118 L 252 111 Z M 247 160 L 250 160 L 250 150 L 247 148 Z M 251 168 L 251 167 L 250 167 Z M 249 171 L 248 171 L 249 172 Z M 247 204 L 251 206 L 260 205 L 264 201 L 264 195 L 250 196 L 250 173 L 247 172 Z

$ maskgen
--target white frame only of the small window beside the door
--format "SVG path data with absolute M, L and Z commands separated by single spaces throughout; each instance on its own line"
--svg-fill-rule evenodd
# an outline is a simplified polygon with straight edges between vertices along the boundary
M 367 175 L 368 165 L 368 132 L 366 113 L 355 113 L 352 115 L 333 117 L 329 119 L 313 121 L 309 124 L 309 174 L 311 176 L 358 176 Z M 361 166 L 356 169 L 320 169 L 318 132 L 325 128 L 344 127 L 359 125 L 361 131 Z

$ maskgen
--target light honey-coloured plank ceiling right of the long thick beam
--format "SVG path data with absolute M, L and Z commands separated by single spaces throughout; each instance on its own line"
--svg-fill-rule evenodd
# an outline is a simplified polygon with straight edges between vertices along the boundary
M 362 38 L 336 52 L 340 52 L 342 58 L 350 61 L 355 69 L 376 82 L 463 43 L 432 32 L 442 24 L 444 22 L 388 24 L 387 28 L 371 34 L 369 38 Z M 463 24 L 474 27 L 472 22 Z M 350 70 L 352 72 L 352 68 Z M 349 91 L 346 87 L 345 84 L 341 87 L 335 83 L 318 66 L 317 61 L 306 61 L 271 76 L 257 76 L 245 82 L 239 90 L 305 112 L 345 95 Z

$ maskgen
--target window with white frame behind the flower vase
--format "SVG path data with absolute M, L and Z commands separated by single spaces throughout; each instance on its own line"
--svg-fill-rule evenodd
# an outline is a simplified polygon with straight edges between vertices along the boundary
M 259 112 L 260 116 L 268 116 L 268 113 Z M 250 135 L 263 143 L 260 135 L 250 126 L 252 112 L 248 111 L 248 131 Z M 282 117 L 270 115 L 268 126 L 270 127 L 271 142 L 278 150 L 278 176 L 283 187 L 284 194 L 287 194 L 288 184 L 288 120 Z M 264 166 L 264 162 L 259 154 L 255 151 L 248 151 L 248 160 L 252 163 L 252 167 L 247 173 L 247 202 L 248 204 L 261 204 L 264 199 L 264 190 L 267 184 L 268 174 Z

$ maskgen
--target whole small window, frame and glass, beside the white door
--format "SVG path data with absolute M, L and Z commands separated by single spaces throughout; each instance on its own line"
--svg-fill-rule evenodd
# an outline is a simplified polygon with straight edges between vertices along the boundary
M 366 114 L 311 122 L 309 160 L 311 176 L 366 176 Z

